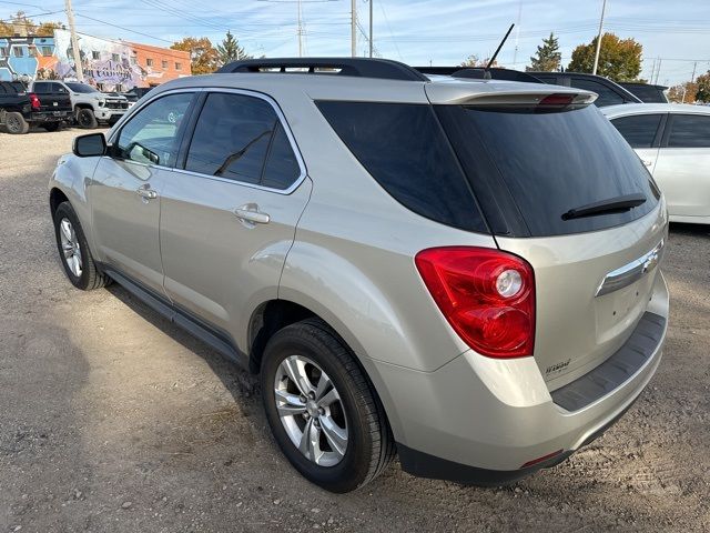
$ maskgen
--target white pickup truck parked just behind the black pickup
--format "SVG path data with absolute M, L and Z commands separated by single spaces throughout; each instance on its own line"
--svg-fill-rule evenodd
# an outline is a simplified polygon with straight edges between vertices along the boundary
M 95 87 L 74 81 L 36 81 L 32 90 L 62 90 L 69 93 L 74 121 L 80 128 L 93 129 L 99 123 L 115 123 L 129 109 L 129 101 L 121 94 L 99 91 Z M 51 89 L 50 89 L 51 88 Z

